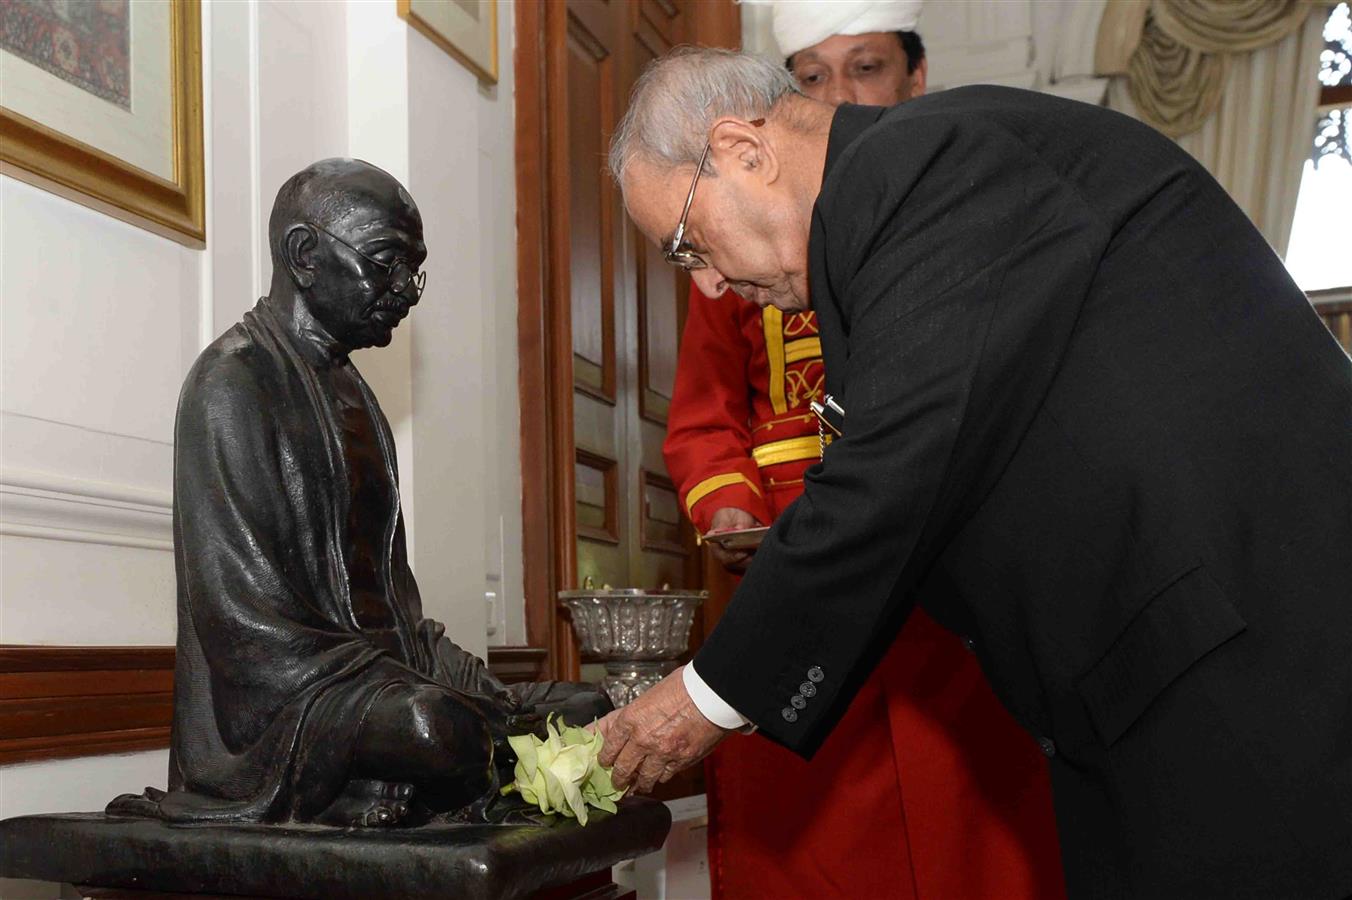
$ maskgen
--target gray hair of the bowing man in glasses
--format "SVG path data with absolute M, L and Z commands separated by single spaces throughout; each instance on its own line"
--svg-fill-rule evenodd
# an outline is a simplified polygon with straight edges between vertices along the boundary
M 760 119 L 799 93 L 784 66 L 749 53 L 677 47 L 638 76 L 629 111 L 610 141 L 610 172 L 623 184 L 634 159 L 664 168 L 695 165 L 722 116 Z

